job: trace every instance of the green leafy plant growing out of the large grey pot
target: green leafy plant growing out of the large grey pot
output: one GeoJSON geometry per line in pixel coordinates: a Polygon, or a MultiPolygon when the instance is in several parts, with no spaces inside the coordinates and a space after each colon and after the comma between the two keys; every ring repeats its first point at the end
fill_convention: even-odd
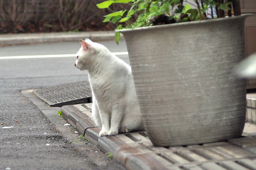
{"type": "MultiPolygon", "coordinates": [[[[103,22],[120,23],[116,30],[221,18],[225,17],[225,14],[231,17],[232,13],[235,16],[241,15],[239,0],[226,0],[225,3],[224,0],[190,0],[184,5],[185,2],[187,0],[107,0],[97,6],[110,9],[109,6],[113,3],[132,3],[130,9],[113,11],[104,16],[103,22]],[[190,4],[194,8],[191,8],[190,4]],[[136,19],[134,22],[130,21],[134,19],[133,16],[136,19]],[[126,24],[123,27],[121,23],[126,24]]],[[[120,32],[116,32],[117,43],[119,35],[120,32]]]]}

